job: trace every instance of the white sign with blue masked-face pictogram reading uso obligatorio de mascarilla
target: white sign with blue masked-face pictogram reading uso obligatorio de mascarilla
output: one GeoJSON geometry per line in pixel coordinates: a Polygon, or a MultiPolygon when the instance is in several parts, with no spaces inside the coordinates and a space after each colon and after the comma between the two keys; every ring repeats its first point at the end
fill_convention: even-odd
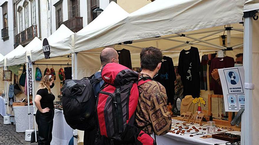
{"type": "Polygon", "coordinates": [[[218,69],[224,95],[225,111],[238,112],[245,108],[244,67],[218,69]]]}

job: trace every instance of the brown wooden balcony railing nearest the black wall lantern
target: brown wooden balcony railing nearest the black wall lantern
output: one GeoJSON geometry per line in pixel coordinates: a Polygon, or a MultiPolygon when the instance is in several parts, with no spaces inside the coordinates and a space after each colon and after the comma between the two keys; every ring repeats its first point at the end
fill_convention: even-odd
{"type": "Polygon", "coordinates": [[[66,25],[71,31],[78,32],[83,28],[83,17],[74,17],[64,21],[62,24],[66,25]]]}

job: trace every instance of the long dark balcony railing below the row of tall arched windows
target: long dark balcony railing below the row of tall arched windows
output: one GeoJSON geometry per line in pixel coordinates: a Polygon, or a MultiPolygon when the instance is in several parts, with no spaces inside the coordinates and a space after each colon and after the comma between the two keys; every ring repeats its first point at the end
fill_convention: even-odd
{"type": "Polygon", "coordinates": [[[21,45],[29,43],[37,36],[37,26],[33,25],[15,36],[15,42],[21,45]]]}

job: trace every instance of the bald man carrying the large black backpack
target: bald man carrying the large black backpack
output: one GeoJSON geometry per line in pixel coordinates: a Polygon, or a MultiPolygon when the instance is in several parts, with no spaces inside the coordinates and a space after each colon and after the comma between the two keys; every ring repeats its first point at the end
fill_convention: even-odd
{"type": "MultiPolygon", "coordinates": [[[[108,64],[111,62],[119,63],[119,54],[114,48],[107,47],[107,48],[104,48],[104,50],[102,50],[102,52],[100,54],[100,59],[101,59],[101,67],[100,67],[99,71],[97,71],[91,79],[102,78],[101,70],[105,64],[108,64]]],[[[103,83],[104,83],[104,81],[102,80],[99,83],[96,83],[93,85],[94,96],[98,95],[103,83]]],[[[85,131],[84,132],[84,145],[93,145],[95,142],[95,138],[96,138],[96,128],[93,129],[92,131],[89,131],[89,130],[85,131]]]]}

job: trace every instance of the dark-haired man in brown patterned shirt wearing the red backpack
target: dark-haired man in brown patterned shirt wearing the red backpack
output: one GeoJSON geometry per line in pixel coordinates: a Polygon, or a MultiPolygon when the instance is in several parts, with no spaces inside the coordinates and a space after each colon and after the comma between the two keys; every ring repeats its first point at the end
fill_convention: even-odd
{"type": "MultiPolygon", "coordinates": [[[[140,53],[142,71],[139,78],[152,79],[161,67],[162,52],[155,47],[143,48],[140,53]]],[[[171,116],[167,110],[165,87],[157,81],[148,81],[139,86],[136,109],[136,125],[147,134],[164,135],[171,129],[171,116]]]]}

